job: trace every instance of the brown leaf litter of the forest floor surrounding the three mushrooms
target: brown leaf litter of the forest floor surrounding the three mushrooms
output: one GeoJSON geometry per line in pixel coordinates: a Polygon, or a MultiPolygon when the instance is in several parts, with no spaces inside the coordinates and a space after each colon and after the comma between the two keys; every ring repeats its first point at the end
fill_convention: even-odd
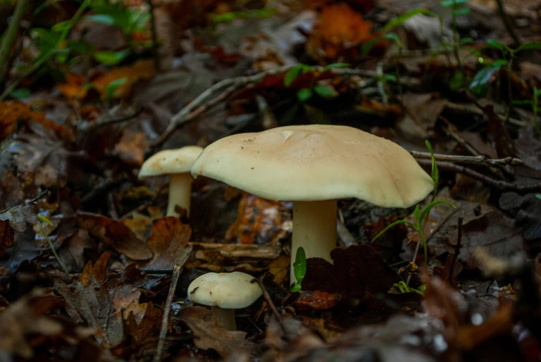
{"type": "Polygon", "coordinates": [[[2,355],[538,361],[537,5],[69,0],[0,24],[30,26],[0,46],[2,355]],[[429,173],[430,141],[420,206],[456,208],[371,243],[414,208],[339,200],[332,262],[306,260],[291,291],[291,203],[198,177],[191,217],[163,216],[168,177],[136,177],[158,150],[312,123],[389,138],[429,173]],[[208,271],[264,289],[237,331],[187,298],[208,271]]]}

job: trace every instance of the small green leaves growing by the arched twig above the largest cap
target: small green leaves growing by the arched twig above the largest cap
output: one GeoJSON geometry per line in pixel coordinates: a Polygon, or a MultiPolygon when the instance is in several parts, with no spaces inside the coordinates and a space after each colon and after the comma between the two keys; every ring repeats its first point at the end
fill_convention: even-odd
{"type": "Polygon", "coordinates": [[[307,64],[297,64],[296,66],[292,66],[287,73],[285,73],[285,77],[283,80],[283,84],[285,87],[290,87],[293,82],[299,78],[301,75],[312,72],[313,77],[310,84],[310,87],[305,87],[299,89],[299,91],[296,92],[296,98],[300,100],[301,102],[306,102],[312,96],[314,93],[316,93],[321,98],[335,98],[338,96],[337,91],[333,89],[332,87],[327,87],[323,84],[315,84],[314,80],[317,78],[317,75],[320,73],[323,73],[325,71],[328,71],[330,69],[336,69],[336,68],[346,68],[349,66],[349,64],[345,63],[333,63],[329,64],[328,66],[324,66],[322,69],[315,69],[312,66],[309,66],[307,64]]]}

